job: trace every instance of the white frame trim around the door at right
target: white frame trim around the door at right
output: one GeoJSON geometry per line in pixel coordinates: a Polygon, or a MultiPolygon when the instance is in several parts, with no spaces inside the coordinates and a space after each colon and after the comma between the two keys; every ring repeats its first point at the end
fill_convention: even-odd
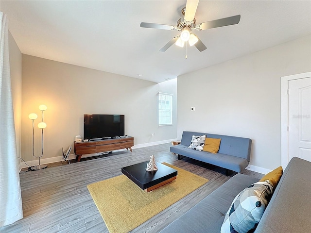
{"type": "Polygon", "coordinates": [[[281,165],[288,164],[288,83],[291,80],[311,77],[311,72],[281,77],[281,165]]]}

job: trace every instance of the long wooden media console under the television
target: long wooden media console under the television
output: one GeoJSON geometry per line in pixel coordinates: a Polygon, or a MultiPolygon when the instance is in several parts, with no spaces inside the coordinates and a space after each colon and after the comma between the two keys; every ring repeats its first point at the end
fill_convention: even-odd
{"type": "Polygon", "coordinates": [[[83,154],[95,154],[111,150],[125,149],[132,152],[134,146],[134,137],[128,136],[121,138],[104,139],[89,142],[74,142],[74,153],[77,155],[77,161],[80,162],[83,154]]]}

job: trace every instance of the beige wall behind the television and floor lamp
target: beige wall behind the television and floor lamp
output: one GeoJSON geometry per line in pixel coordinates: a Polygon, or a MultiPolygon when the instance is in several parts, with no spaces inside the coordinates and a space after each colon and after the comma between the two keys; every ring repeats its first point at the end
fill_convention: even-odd
{"type": "Polygon", "coordinates": [[[35,155],[40,154],[41,131],[36,127],[42,117],[40,104],[47,105],[42,157],[45,159],[61,156],[62,148],[73,147],[75,135],[83,137],[83,114],[124,114],[125,134],[135,137],[135,145],[174,139],[176,85],[176,80],[157,84],[23,54],[22,157],[26,161],[35,160],[30,113],[38,115],[35,155]],[[158,126],[158,92],[174,95],[172,126],[158,126]]]}

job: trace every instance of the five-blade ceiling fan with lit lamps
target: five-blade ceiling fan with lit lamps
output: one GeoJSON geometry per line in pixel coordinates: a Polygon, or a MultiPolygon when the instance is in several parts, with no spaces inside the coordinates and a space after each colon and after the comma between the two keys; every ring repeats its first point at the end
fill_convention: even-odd
{"type": "Polygon", "coordinates": [[[179,47],[184,47],[184,45],[186,44],[187,48],[187,42],[189,43],[190,46],[194,45],[200,52],[202,52],[207,48],[195,34],[191,33],[192,30],[202,31],[210,28],[218,28],[238,24],[240,22],[241,15],[220,18],[196,25],[194,16],[196,9],[198,7],[198,3],[199,0],[187,0],[186,7],[184,7],[181,10],[181,13],[184,17],[178,19],[177,26],[142,22],[140,23],[140,27],[164,29],[172,31],[178,30],[179,32],[181,32],[179,35],[173,37],[173,39],[170,40],[162,49],[160,49],[160,51],[162,52],[165,52],[174,43],[179,47]]]}

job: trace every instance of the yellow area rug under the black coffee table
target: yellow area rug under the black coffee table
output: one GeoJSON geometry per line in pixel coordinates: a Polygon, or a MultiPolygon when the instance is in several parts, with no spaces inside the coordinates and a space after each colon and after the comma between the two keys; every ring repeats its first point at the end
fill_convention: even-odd
{"type": "Polygon", "coordinates": [[[208,180],[176,166],[177,179],[145,192],[125,175],[87,185],[110,233],[127,233],[208,180]]]}

